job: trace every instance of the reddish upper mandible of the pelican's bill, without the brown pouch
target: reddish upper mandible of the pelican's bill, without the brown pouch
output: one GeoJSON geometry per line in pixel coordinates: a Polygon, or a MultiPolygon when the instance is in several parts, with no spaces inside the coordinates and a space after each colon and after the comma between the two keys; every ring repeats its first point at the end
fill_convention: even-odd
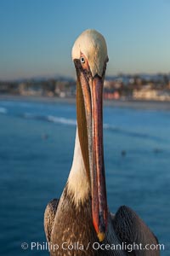
{"type": "Polygon", "coordinates": [[[103,148],[103,81],[96,76],[92,85],[93,102],[93,156],[92,161],[92,212],[94,228],[99,241],[105,239],[107,226],[107,199],[105,191],[105,165],[103,148]]]}

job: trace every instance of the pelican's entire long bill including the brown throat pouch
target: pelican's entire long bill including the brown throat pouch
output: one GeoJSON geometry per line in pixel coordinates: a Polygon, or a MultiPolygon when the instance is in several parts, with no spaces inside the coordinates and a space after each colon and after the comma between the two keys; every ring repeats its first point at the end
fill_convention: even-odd
{"type": "MultiPolygon", "coordinates": [[[[75,65],[77,67],[76,63],[75,65]]],[[[107,227],[103,148],[103,83],[103,78],[100,78],[99,75],[87,79],[87,76],[77,68],[78,133],[82,158],[91,186],[93,223],[99,241],[105,239],[107,227]]]]}

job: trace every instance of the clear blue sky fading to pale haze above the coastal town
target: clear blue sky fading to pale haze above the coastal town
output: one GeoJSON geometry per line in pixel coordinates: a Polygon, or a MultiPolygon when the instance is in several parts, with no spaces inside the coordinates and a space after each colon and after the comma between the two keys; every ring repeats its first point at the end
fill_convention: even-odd
{"type": "Polygon", "coordinates": [[[170,72],[170,0],[0,0],[0,79],[74,76],[87,28],[105,36],[107,74],[170,72]]]}

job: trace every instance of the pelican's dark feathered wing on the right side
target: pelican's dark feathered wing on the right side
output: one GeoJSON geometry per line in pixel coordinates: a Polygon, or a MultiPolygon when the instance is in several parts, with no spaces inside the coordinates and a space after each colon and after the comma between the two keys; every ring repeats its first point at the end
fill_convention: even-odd
{"type": "Polygon", "coordinates": [[[129,255],[160,255],[159,247],[153,250],[154,245],[156,246],[158,244],[156,236],[131,208],[122,206],[115,215],[111,213],[111,218],[114,230],[120,241],[126,242],[127,245],[134,245],[134,243],[136,245],[141,244],[141,247],[144,248],[144,250],[141,250],[138,246],[135,246],[133,252],[129,253],[129,255]],[[152,245],[152,250],[150,249],[150,245],[152,245]]]}

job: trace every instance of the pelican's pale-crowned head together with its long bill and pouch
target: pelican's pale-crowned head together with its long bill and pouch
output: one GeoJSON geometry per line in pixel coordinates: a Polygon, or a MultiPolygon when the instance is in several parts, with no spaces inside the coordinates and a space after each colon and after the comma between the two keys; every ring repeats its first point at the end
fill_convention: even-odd
{"type": "Polygon", "coordinates": [[[107,201],[103,149],[103,84],[108,61],[105,38],[87,30],[72,48],[77,70],[77,127],[82,158],[92,197],[94,229],[105,239],[107,201]]]}

